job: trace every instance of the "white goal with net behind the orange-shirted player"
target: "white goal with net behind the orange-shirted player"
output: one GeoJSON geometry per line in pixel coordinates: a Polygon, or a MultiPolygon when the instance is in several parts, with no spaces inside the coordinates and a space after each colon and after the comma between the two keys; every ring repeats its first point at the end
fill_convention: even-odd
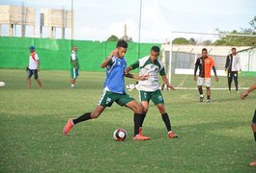
{"type": "MultiPolygon", "coordinates": [[[[162,61],[165,62],[171,85],[181,89],[195,89],[196,83],[193,81],[194,63],[201,56],[201,50],[207,48],[209,56],[215,62],[217,76],[220,78],[217,84],[212,80],[212,87],[213,89],[227,89],[225,62],[226,57],[231,54],[231,49],[235,47],[242,64],[242,73],[239,74],[239,88],[244,89],[256,82],[255,45],[256,35],[172,32],[170,42],[163,43],[161,46],[161,56],[162,61]],[[179,38],[179,44],[176,44],[179,38]],[[249,41],[250,43],[246,43],[249,41]]],[[[234,82],[232,86],[234,87],[234,82]]]]}

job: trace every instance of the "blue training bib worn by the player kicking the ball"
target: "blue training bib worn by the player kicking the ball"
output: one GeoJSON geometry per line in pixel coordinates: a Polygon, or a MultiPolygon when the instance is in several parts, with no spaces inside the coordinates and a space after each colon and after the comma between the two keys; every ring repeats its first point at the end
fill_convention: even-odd
{"type": "Polygon", "coordinates": [[[106,66],[106,79],[104,83],[104,89],[115,93],[126,92],[124,76],[126,68],[126,59],[119,59],[114,56],[106,66]]]}

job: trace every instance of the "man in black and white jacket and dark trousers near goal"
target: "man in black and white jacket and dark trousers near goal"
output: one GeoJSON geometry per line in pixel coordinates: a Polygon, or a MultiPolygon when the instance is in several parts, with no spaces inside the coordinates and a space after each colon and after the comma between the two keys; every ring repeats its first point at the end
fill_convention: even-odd
{"type": "Polygon", "coordinates": [[[226,64],[225,64],[225,71],[228,75],[228,91],[231,92],[231,84],[234,78],[236,91],[239,92],[239,74],[238,71],[242,71],[241,68],[241,61],[240,61],[240,55],[237,54],[237,49],[233,47],[231,49],[232,53],[227,56],[226,64]]]}

